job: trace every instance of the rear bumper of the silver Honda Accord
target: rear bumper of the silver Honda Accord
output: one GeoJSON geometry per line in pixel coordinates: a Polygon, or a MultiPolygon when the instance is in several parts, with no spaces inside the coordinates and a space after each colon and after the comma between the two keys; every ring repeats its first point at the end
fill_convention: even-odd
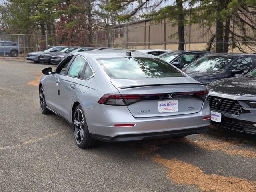
{"type": "Polygon", "coordinates": [[[99,140],[128,141],[170,136],[183,136],[207,132],[210,119],[210,106],[204,102],[198,113],[135,118],[126,106],[96,104],[94,108],[84,110],[88,129],[92,137],[99,140]],[[114,127],[115,124],[135,124],[134,126],[114,127]]]}

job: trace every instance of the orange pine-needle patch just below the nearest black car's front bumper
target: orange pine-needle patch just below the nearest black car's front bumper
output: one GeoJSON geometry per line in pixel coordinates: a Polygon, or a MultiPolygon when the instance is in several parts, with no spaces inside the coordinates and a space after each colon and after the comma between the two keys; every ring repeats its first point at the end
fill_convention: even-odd
{"type": "Polygon", "coordinates": [[[200,148],[204,148],[206,150],[217,151],[221,150],[230,155],[237,155],[243,157],[256,158],[256,152],[245,150],[245,149],[236,149],[239,146],[244,145],[244,141],[240,140],[227,140],[227,141],[218,141],[218,140],[208,140],[208,141],[194,141],[191,139],[184,139],[185,141],[195,144],[200,148]]]}

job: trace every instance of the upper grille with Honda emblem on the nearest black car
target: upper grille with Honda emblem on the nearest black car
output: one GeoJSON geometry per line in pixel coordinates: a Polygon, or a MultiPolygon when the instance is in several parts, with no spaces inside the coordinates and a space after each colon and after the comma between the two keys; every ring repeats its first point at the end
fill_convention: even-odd
{"type": "Polygon", "coordinates": [[[230,114],[240,115],[244,111],[243,107],[237,100],[209,96],[209,104],[211,110],[226,112],[230,114]],[[215,105],[215,99],[221,101],[220,106],[215,105]]]}

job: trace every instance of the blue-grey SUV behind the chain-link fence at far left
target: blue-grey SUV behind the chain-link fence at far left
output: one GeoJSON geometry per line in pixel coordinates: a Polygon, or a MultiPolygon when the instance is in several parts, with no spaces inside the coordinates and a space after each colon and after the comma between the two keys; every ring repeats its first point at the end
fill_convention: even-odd
{"type": "Polygon", "coordinates": [[[18,42],[0,41],[0,55],[17,57],[19,53],[22,53],[22,49],[19,48],[18,42]]]}

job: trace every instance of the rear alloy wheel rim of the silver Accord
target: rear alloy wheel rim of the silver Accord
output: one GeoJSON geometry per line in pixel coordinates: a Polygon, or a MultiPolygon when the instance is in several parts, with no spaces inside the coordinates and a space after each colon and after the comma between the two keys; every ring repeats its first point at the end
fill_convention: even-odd
{"type": "Polygon", "coordinates": [[[76,109],[73,122],[76,143],[81,144],[84,138],[84,116],[80,108],[76,109]]]}

